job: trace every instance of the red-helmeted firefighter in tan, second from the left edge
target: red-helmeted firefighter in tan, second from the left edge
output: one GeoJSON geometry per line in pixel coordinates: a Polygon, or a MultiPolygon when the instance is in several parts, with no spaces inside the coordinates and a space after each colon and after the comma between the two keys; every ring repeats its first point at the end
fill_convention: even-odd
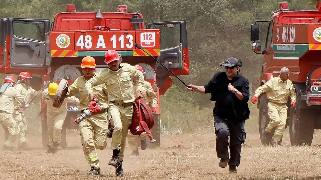
{"type": "MultiPolygon", "coordinates": [[[[15,88],[25,97],[26,102],[28,102],[33,96],[37,94],[38,91],[32,89],[30,86],[30,80],[32,77],[28,72],[21,72],[19,74],[19,80],[15,84],[15,88]]],[[[41,91],[41,90],[39,90],[41,91]]],[[[19,140],[19,149],[29,149],[25,132],[27,131],[27,121],[26,117],[21,110],[21,107],[19,107],[19,102],[14,102],[14,113],[13,113],[13,119],[17,122],[20,133],[18,134],[18,140],[19,140]]],[[[27,105],[28,106],[28,105],[27,105]]]]}

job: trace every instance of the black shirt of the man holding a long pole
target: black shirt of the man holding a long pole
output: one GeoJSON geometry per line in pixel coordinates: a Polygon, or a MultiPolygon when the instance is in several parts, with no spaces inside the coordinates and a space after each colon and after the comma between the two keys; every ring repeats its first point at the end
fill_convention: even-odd
{"type": "Polygon", "coordinates": [[[236,77],[229,80],[225,72],[218,72],[210,82],[204,85],[204,88],[205,93],[211,93],[211,101],[215,101],[214,114],[232,121],[244,121],[249,118],[250,110],[247,102],[250,91],[247,78],[238,73],[236,77]],[[229,83],[243,94],[243,100],[239,100],[228,90],[229,83]]]}

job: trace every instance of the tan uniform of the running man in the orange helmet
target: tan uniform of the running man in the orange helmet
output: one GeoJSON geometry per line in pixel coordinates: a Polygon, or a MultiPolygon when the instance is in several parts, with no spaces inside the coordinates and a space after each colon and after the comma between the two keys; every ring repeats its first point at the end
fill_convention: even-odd
{"type": "MultiPolygon", "coordinates": [[[[97,73],[94,74],[94,77],[96,76],[97,73]]],[[[82,75],[68,87],[68,92],[70,93],[68,97],[79,92],[79,116],[82,110],[89,109],[90,105],[90,100],[85,90],[85,82],[87,80],[82,75]]],[[[106,109],[108,108],[108,97],[105,84],[93,87],[93,94],[99,99],[100,104],[104,106],[105,110],[83,119],[79,123],[79,129],[86,161],[91,167],[99,168],[99,158],[96,149],[103,150],[107,146],[106,130],[108,129],[108,114],[106,109]]]]}

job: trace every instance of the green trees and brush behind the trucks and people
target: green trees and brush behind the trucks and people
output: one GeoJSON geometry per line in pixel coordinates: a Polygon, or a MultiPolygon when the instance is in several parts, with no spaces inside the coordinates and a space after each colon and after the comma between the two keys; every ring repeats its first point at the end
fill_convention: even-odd
{"type": "MultiPolygon", "coordinates": [[[[277,10],[278,0],[1,0],[0,18],[39,18],[53,20],[66,4],[77,11],[117,11],[126,4],[128,12],[141,12],[145,22],[186,20],[190,75],[181,76],[187,84],[207,83],[222,70],[219,63],[229,57],[241,59],[241,74],[250,82],[251,92],[258,86],[262,55],[251,51],[250,27],[255,20],[269,20],[277,10]]],[[[316,10],[315,1],[290,0],[290,10],[316,10]]],[[[267,24],[260,24],[260,41],[265,42],[267,24]]],[[[264,44],[264,43],[262,43],[264,44]]],[[[264,48],[264,47],[262,47],[264,48]]],[[[162,125],[167,131],[182,132],[213,127],[210,95],[188,92],[175,77],[173,86],[161,97],[162,125]]],[[[256,107],[250,104],[251,119],[257,123],[256,107]]]]}

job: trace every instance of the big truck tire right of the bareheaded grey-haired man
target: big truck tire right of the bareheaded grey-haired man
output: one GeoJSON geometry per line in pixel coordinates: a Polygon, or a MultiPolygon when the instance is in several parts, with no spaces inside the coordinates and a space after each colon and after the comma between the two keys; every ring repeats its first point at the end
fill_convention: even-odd
{"type": "Polygon", "coordinates": [[[290,141],[291,145],[311,146],[314,132],[313,112],[307,109],[290,109],[290,141]]]}

